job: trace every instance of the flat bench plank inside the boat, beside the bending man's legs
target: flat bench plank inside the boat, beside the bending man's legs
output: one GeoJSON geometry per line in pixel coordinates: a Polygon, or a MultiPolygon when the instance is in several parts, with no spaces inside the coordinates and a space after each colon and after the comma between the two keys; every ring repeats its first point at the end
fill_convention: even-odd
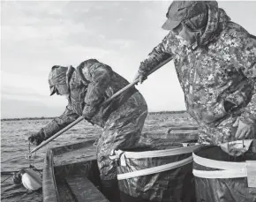
{"type": "Polygon", "coordinates": [[[86,176],[67,176],[65,181],[78,202],[109,202],[86,176]]]}

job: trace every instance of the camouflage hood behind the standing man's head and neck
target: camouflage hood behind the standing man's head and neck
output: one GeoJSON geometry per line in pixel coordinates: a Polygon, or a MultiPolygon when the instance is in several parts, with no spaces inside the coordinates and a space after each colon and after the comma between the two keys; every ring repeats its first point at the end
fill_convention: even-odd
{"type": "Polygon", "coordinates": [[[213,41],[230,21],[230,17],[226,14],[225,11],[218,7],[216,2],[209,2],[207,7],[207,27],[205,32],[200,37],[200,45],[207,45],[209,41],[213,41]]]}

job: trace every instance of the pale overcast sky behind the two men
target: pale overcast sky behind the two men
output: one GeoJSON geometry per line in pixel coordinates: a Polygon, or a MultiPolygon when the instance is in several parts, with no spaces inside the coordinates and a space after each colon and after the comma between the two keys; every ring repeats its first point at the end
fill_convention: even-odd
{"type": "MultiPolygon", "coordinates": [[[[2,2],[1,115],[59,116],[67,101],[49,96],[55,64],[89,58],[132,81],[139,63],[168,34],[161,26],[170,1],[2,2]]],[[[230,18],[256,35],[256,2],[219,2],[230,18]]],[[[183,110],[173,62],[138,86],[150,111],[183,110]]]]}

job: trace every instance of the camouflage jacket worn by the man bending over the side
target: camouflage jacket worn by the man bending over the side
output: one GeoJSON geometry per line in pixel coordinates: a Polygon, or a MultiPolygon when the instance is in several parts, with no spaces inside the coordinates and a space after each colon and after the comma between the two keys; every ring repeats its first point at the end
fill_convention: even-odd
{"type": "Polygon", "coordinates": [[[77,69],[70,67],[67,71],[67,80],[70,88],[69,103],[61,116],[42,128],[45,138],[60,131],[79,116],[84,116],[90,123],[104,127],[110,114],[137,92],[137,89],[132,87],[108,104],[99,107],[103,101],[127,86],[129,82],[112,71],[108,65],[95,59],[87,60],[85,65],[79,65],[77,69]]]}

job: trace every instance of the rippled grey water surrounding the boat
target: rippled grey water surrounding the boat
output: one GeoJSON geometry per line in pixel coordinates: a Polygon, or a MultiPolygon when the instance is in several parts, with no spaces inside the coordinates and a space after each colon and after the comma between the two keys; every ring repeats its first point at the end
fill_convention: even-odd
{"type": "MultiPolygon", "coordinates": [[[[26,132],[38,131],[46,123],[49,123],[49,121],[49,119],[44,119],[1,122],[1,173],[19,171],[21,168],[26,168],[30,164],[34,165],[35,168],[42,168],[47,148],[97,138],[102,133],[100,127],[82,121],[53,140],[49,145],[42,147],[36,152],[35,156],[33,155],[32,160],[28,161],[26,159],[26,153],[28,151],[28,136],[26,132]]],[[[164,133],[168,130],[169,126],[176,123],[192,123],[192,121],[186,116],[148,116],[144,131],[155,132],[155,134],[164,133]]],[[[11,174],[1,174],[1,182],[8,176],[11,176],[11,174]]],[[[1,183],[1,201],[41,202],[42,191],[27,191],[22,184],[16,185],[9,178],[4,183],[1,183]]]]}

